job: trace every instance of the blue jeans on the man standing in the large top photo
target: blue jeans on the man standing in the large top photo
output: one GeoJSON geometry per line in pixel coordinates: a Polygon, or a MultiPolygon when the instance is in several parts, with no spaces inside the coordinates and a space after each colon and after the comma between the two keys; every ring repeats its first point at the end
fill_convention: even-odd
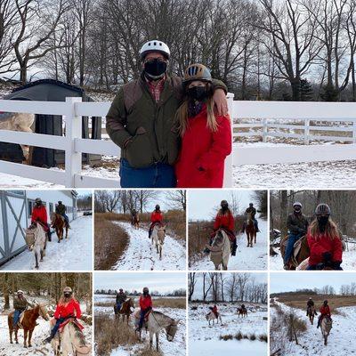
{"type": "Polygon", "coordinates": [[[174,166],[157,163],[146,168],[133,168],[125,158],[120,160],[122,188],[175,188],[174,166]]]}

